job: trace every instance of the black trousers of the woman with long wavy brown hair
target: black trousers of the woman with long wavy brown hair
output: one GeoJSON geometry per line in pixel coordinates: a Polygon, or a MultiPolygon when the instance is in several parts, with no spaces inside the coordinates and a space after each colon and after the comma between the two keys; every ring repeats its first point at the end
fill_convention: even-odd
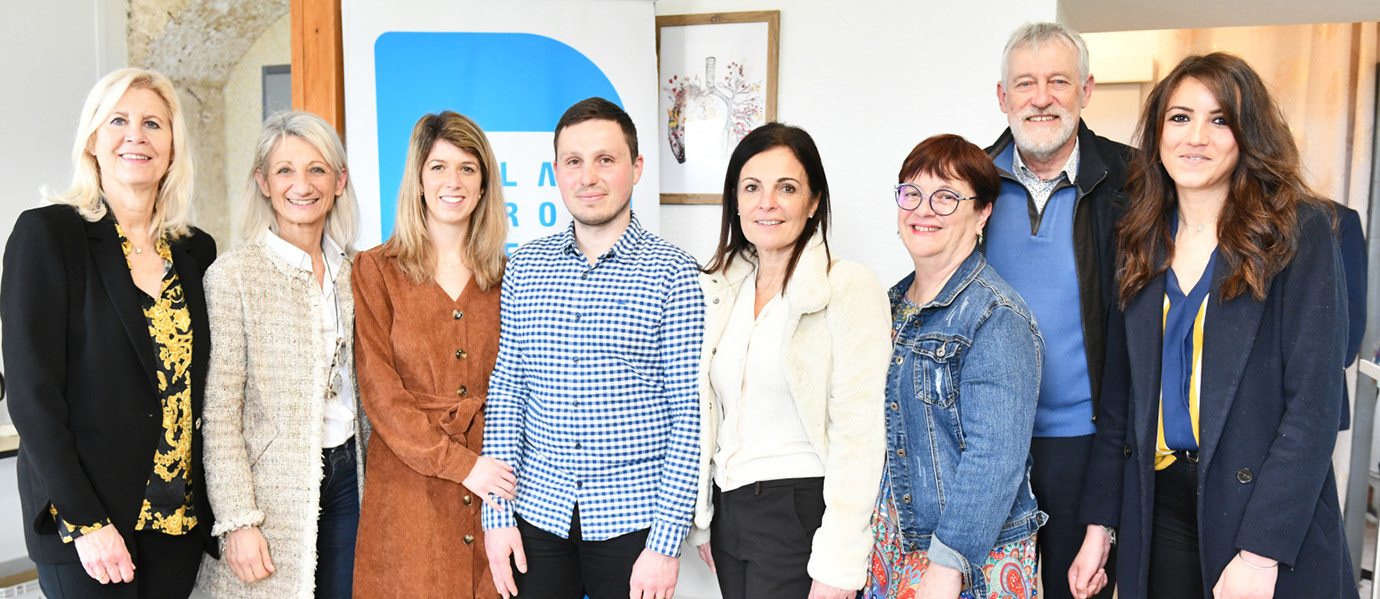
{"type": "Polygon", "coordinates": [[[1180,457],[1155,472],[1148,599],[1202,598],[1198,559],[1198,464],[1180,457]]]}

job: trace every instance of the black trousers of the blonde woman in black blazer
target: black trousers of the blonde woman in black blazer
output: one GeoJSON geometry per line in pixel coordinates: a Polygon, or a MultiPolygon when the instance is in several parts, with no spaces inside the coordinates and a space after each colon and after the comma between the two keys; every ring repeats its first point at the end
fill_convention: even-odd
{"type": "Polygon", "coordinates": [[[39,587],[48,599],[186,599],[196,584],[206,540],[200,529],[188,534],[152,531],[124,537],[134,562],[130,582],[101,584],[81,563],[40,563],[39,587]]]}

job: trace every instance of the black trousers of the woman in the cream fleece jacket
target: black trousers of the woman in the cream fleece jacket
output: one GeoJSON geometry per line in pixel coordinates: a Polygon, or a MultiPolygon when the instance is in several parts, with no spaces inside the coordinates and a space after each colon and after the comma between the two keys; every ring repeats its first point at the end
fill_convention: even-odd
{"type": "Polygon", "coordinates": [[[824,479],[713,490],[709,548],[723,599],[805,599],[810,547],[824,518],[824,479]]]}

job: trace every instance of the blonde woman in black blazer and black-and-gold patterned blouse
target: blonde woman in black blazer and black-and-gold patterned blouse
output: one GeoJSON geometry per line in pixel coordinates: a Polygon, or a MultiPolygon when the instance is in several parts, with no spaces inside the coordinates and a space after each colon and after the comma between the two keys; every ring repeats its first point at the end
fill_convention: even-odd
{"type": "Polygon", "coordinates": [[[199,415],[215,242],[186,224],[185,131],[167,77],[108,75],[70,189],[21,214],[6,246],[19,501],[51,599],[186,598],[213,548],[199,415]]]}

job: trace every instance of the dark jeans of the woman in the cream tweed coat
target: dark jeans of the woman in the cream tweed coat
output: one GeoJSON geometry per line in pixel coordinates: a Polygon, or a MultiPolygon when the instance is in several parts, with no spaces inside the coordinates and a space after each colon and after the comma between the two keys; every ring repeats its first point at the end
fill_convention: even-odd
{"type": "Polygon", "coordinates": [[[322,513],[316,520],[316,596],[349,599],[359,531],[359,472],[355,439],[322,450],[322,513]]]}

